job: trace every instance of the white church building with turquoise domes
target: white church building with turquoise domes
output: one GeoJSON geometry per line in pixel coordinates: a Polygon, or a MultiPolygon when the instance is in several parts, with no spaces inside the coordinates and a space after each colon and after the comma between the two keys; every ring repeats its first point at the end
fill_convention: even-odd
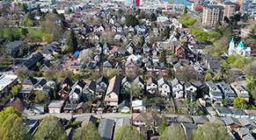
{"type": "Polygon", "coordinates": [[[230,47],[229,47],[229,55],[242,55],[244,57],[250,57],[251,55],[251,47],[245,47],[243,41],[241,41],[240,43],[238,43],[238,46],[235,46],[235,41],[232,40],[230,41],[230,47]]]}

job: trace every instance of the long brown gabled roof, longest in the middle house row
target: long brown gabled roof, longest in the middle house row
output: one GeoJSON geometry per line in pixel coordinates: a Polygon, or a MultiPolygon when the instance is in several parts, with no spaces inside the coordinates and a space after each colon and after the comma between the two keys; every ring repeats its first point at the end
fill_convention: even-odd
{"type": "Polygon", "coordinates": [[[114,92],[116,95],[120,94],[121,80],[118,76],[114,76],[110,81],[106,90],[106,95],[114,92]]]}

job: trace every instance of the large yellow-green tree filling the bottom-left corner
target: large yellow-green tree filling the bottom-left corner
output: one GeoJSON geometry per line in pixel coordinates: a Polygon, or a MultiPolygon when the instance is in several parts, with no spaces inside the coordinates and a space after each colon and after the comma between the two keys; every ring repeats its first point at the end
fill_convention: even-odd
{"type": "Polygon", "coordinates": [[[11,114],[1,126],[0,139],[27,139],[26,131],[22,119],[16,114],[11,114]]]}

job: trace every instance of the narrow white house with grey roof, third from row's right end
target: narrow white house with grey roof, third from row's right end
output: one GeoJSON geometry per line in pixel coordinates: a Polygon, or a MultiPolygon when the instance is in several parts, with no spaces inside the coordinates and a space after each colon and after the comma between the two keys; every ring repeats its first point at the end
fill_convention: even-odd
{"type": "Polygon", "coordinates": [[[209,92],[208,95],[210,97],[211,102],[222,105],[223,94],[219,88],[216,87],[213,81],[206,82],[209,92]]]}

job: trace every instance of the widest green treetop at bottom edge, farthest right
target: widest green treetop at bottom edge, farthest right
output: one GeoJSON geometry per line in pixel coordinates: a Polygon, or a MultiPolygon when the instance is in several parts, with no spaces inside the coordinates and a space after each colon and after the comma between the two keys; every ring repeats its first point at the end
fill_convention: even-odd
{"type": "Polygon", "coordinates": [[[231,140],[227,127],[223,123],[204,123],[192,131],[191,140],[231,140]]]}

